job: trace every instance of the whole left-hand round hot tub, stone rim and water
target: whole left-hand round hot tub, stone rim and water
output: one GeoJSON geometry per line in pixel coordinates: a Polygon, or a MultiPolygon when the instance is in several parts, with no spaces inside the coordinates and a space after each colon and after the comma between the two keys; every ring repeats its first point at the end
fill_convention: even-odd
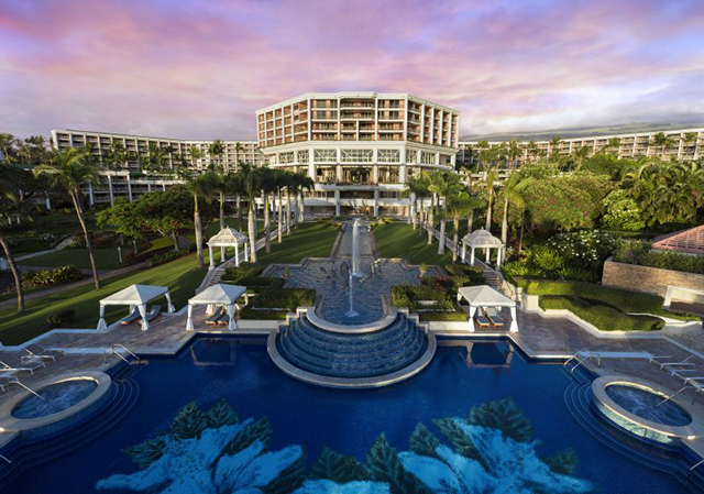
{"type": "Polygon", "coordinates": [[[50,377],[31,387],[43,399],[22,392],[0,405],[0,431],[47,433],[89,415],[110,391],[108,374],[80,371],[50,377]]]}

